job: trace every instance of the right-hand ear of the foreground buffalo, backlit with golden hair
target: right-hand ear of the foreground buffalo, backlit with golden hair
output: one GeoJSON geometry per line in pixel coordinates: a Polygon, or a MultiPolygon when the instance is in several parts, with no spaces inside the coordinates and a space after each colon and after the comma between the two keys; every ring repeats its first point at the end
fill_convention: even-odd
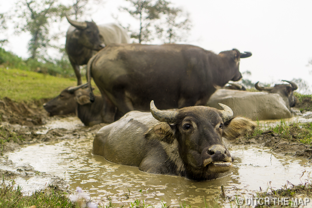
{"type": "Polygon", "coordinates": [[[236,139],[252,133],[257,124],[245,117],[235,117],[224,123],[222,137],[227,139],[236,139]]]}

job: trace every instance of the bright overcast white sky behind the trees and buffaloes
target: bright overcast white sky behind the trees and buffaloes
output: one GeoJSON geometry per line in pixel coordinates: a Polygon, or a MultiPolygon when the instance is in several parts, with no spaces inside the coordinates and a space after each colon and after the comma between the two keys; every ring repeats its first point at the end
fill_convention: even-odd
{"type": "MultiPolygon", "coordinates": [[[[190,13],[193,28],[186,43],[215,53],[233,48],[251,51],[251,57],[241,59],[240,71],[251,71],[248,78],[253,82],[279,84],[280,80],[301,78],[312,86],[312,66],[307,66],[312,59],[312,1],[168,1],[190,13]]],[[[98,11],[81,21],[115,22],[114,14],[124,25],[137,24],[118,11],[119,6],[126,5],[124,0],[107,0],[102,8],[95,5],[98,11]]],[[[12,6],[12,1],[1,1],[0,12],[12,6]]],[[[64,22],[65,31],[68,27],[64,22]]],[[[29,39],[28,34],[9,34],[5,48],[27,58],[29,39]]],[[[65,38],[61,41],[65,44],[65,38]]]]}

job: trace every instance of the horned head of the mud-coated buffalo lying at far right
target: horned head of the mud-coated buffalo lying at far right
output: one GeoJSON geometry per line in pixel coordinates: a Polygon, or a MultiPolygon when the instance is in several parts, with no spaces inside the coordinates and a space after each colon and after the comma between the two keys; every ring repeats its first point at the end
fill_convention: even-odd
{"type": "Polygon", "coordinates": [[[296,104],[296,98],[294,96],[294,91],[298,89],[298,86],[294,82],[282,80],[288,82],[289,84],[274,85],[274,87],[261,87],[258,85],[259,82],[255,84],[255,87],[259,91],[266,91],[269,93],[279,94],[288,108],[294,107],[296,104]]]}

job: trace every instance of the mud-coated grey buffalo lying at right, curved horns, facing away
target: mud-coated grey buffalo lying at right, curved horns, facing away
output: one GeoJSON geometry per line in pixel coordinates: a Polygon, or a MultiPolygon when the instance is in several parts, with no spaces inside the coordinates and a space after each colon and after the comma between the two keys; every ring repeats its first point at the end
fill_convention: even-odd
{"type": "Polygon", "coordinates": [[[291,84],[275,85],[271,88],[261,88],[256,83],[258,90],[266,89],[267,92],[218,89],[207,105],[220,109],[218,103],[223,103],[233,110],[234,116],[246,116],[252,120],[291,118],[289,109],[295,104],[293,91],[297,89],[297,85],[289,83],[291,84]]]}

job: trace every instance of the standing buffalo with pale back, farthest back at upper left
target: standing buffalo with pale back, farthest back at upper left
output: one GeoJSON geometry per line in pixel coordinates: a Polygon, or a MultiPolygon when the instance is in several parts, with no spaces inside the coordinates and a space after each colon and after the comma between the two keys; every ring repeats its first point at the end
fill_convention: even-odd
{"type": "Polygon", "coordinates": [[[66,16],[72,25],[66,33],[65,49],[75,70],[78,85],[82,84],[79,65],[88,60],[110,43],[129,43],[123,27],[115,24],[96,25],[95,22],[76,22],[66,16]]]}

